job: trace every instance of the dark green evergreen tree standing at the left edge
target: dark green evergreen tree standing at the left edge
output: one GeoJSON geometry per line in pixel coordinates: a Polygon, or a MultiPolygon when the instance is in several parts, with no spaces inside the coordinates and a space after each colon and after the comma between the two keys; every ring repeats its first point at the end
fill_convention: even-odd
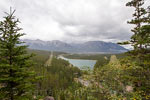
{"type": "Polygon", "coordinates": [[[32,55],[27,54],[27,46],[19,39],[24,33],[20,33],[14,12],[6,13],[0,21],[0,99],[29,100],[34,80],[34,72],[30,71],[32,55]]]}

